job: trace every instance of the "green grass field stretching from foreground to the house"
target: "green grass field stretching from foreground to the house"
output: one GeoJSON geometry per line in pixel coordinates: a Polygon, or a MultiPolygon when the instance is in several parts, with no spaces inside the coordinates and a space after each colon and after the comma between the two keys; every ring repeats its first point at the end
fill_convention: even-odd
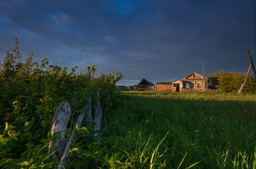
{"type": "Polygon", "coordinates": [[[256,95],[125,91],[106,112],[108,168],[256,168],[256,95]]]}

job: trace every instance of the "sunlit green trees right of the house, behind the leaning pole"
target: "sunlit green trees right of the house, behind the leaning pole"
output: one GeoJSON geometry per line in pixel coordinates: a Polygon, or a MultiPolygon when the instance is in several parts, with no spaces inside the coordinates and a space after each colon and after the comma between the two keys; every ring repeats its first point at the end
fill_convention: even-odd
{"type": "MultiPolygon", "coordinates": [[[[237,73],[234,71],[219,71],[208,76],[208,84],[219,88],[219,90],[225,93],[237,92],[240,89],[241,84],[244,83],[245,76],[246,74],[237,73]]],[[[256,78],[255,76],[252,76],[252,74],[249,75],[248,81],[244,87],[244,92],[256,92],[256,78]]]]}

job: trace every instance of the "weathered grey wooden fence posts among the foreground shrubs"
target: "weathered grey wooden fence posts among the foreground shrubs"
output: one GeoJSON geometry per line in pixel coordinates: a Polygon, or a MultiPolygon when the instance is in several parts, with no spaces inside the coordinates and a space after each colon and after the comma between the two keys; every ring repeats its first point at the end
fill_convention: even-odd
{"type": "MultiPolygon", "coordinates": [[[[67,154],[69,152],[70,143],[71,141],[74,143],[77,141],[75,130],[82,124],[84,116],[86,116],[87,122],[92,122],[93,120],[96,122],[96,126],[94,127],[94,136],[96,139],[99,139],[99,134],[96,131],[101,129],[103,107],[100,105],[99,91],[97,92],[97,95],[98,100],[96,109],[94,109],[94,114],[92,114],[91,111],[91,96],[87,95],[87,98],[85,99],[86,101],[84,101],[84,108],[86,109],[86,112],[79,114],[69,138],[64,138],[64,136],[65,131],[67,130],[67,123],[71,117],[71,107],[68,102],[62,101],[59,103],[59,108],[53,116],[53,123],[50,132],[52,136],[58,134],[59,137],[51,140],[49,145],[49,151],[54,152],[53,157],[59,157],[60,163],[58,169],[65,168],[69,162],[70,156],[67,156],[67,154]]],[[[79,164],[78,168],[80,168],[79,164]]]]}

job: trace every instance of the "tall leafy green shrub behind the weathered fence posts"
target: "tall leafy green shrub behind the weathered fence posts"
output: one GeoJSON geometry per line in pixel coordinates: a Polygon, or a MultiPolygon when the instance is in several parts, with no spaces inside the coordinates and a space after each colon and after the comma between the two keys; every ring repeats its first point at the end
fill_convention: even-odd
{"type": "Polygon", "coordinates": [[[47,149],[59,102],[68,101],[77,116],[75,112],[83,111],[86,95],[96,103],[95,94],[100,90],[107,111],[117,97],[115,84],[122,75],[113,72],[94,79],[95,66],[75,74],[77,67],[68,72],[65,67],[49,65],[45,58],[34,61],[33,53],[22,62],[18,44],[15,39],[13,49],[0,63],[0,166],[50,168],[58,164],[49,158],[47,149]]]}

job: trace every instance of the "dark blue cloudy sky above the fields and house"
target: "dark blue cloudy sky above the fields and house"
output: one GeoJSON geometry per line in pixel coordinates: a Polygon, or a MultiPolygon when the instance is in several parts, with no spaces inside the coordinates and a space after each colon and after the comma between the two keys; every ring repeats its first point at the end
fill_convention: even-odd
{"type": "Polygon", "coordinates": [[[205,76],[244,73],[255,16],[255,0],[1,0],[0,57],[18,38],[24,58],[118,71],[127,86],[203,74],[203,61],[205,76]]]}

